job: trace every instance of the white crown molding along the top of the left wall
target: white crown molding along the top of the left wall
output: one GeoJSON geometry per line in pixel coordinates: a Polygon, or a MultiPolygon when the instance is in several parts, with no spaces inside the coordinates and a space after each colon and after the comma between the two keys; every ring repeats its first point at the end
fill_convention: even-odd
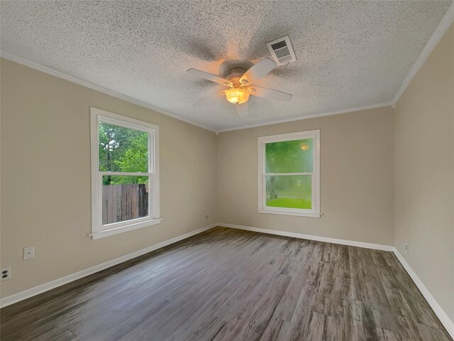
{"type": "Polygon", "coordinates": [[[67,75],[67,74],[57,71],[57,70],[53,70],[50,67],[39,65],[37,63],[31,62],[30,60],[18,57],[17,55],[12,55],[11,53],[0,51],[0,57],[5,58],[7,60],[11,60],[11,61],[21,64],[21,65],[26,65],[26,66],[31,67],[32,69],[35,69],[38,71],[45,72],[48,75],[62,78],[63,80],[68,80],[68,81],[76,83],[78,85],[82,85],[82,87],[88,87],[89,89],[92,89],[92,90],[95,90],[98,92],[102,92],[103,94],[108,94],[109,96],[116,97],[118,99],[122,99],[123,101],[138,105],[139,107],[144,107],[146,109],[153,110],[153,112],[158,112],[165,116],[172,117],[172,119],[178,119],[179,121],[184,121],[186,123],[192,124],[193,126],[198,126],[199,128],[216,132],[215,129],[212,129],[209,126],[204,126],[203,124],[196,123],[194,121],[191,121],[190,119],[185,119],[184,117],[181,117],[179,115],[171,114],[170,112],[166,112],[165,110],[157,108],[151,104],[142,102],[139,99],[135,99],[133,97],[126,96],[125,94],[120,94],[119,92],[115,92],[113,90],[106,89],[105,87],[100,87],[99,85],[93,84],[91,82],[87,82],[86,80],[79,80],[79,78],[72,77],[70,75],[67,75]]]}

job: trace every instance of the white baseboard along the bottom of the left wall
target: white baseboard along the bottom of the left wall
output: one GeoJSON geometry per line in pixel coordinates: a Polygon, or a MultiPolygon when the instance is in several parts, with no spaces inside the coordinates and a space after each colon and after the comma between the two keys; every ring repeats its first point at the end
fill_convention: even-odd
{"type": "Polygon", "coordinates": [[[40,293],[44,293],[45,291],[49,291],[53,288],[57,288],[59,286],[62,286],[64,284],[70,283],[72,281],[76,281],[77,279],[80,279],[82,277],[94,274],[95,272],[110,268],[111,266],[123,263],[123,261],[128,261],[130,259],[133,259],[138,256],[142,256],[143,254],[147,254],[148,252],[155,251],[157,249],[160,249],[161,247],[166,247],[169,244],[173,244],[176,242],[179,242],[182,239],[186,239],[189,237],[194,236],[194,234],[199,234],[201,232],[206,231],[207,229],[212,229],[213,227],[216,227],[217,224],[211,224],[206,227],[202,227],[201,229],[196,229],[192,232],[188,232],[185,234],[182,234],[181,236],[168,239],[165,242],[160,242],[155,245],[152,245],[150,247],[145,247],[145,249],[141,249],[138,251],[131,252],[131,254],[126,254],[124,256],[118,257],[116,259],[112,259],[111,261],[106,261],[105,263],[98,264],[95,266],[92,266],[89,269],[85,269],[82,271],[78,271],[74,274],[70,274],[68,276],[62,277],[55,279],[54,281],[50,281],[48,283],[41,284],[40,286],[35,286],[33,288],[21,291],[20,293],[15,293],[11,296],[7,296],[5,298],[1,298],[0,300],[0,308],[4,308],[7,305],[11,305],[13,303],[17,303],[19,301],[23,301],[26,298],[31,298],[32,296],[36,296],[40,293]]]}

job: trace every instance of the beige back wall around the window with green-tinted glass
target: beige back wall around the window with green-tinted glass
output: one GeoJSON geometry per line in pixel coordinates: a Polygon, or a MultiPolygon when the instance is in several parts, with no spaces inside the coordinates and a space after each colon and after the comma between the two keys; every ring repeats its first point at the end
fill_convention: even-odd
{"type": "Polygon", "coordinates": [[[218,136],[220,222],[394,244],[392,107],[305,119],[218,136]],[[320,129],[320,218],[258,213],[258,136],[320,129]]]}

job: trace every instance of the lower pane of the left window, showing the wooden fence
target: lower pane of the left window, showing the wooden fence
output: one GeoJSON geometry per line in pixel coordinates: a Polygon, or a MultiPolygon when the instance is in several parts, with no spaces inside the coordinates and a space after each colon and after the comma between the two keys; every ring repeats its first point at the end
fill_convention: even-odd
{"type": "Polygon", "coordinates": [[[102,224],[148,216],[148,176],[102,177],[102,224]]]}

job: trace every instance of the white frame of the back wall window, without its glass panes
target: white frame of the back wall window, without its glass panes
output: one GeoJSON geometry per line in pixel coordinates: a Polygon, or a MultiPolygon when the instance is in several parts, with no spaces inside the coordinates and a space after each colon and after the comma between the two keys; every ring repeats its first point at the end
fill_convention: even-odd
{"type": "Polygon", "coordinates": [[[261,136],[258,138],[258,212],[274,215],[297,215],[301,217],[320,217],[320,129],[299,131],[296,133],[261,136]],[[265,144],[271,142],[314,139],[314,171],[313,173],[265,173],[265,144]],[[304,210],[266,205],[266,175],[312,175],[312,209],[304,210]]]}

